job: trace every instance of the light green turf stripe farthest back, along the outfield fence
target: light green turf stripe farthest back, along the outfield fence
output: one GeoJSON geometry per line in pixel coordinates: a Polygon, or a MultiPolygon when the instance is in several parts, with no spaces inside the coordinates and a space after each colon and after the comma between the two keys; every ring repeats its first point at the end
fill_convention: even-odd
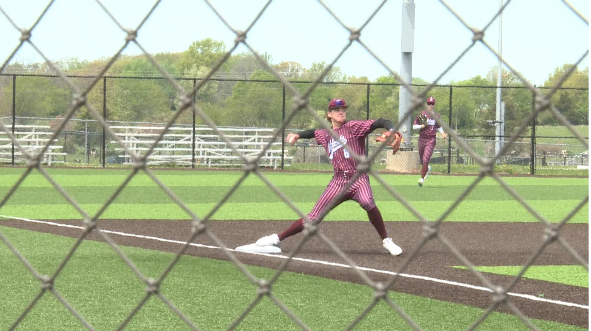
{"type": "MultiPolygon", "coordinates": [[[[76,186],[100,186],[116,187],[119,186],[131,171],[123,174],[113,174],[104,170],[96,171],[86,170],[87,173],[76,174],[54,174],[54,180],[64,187],[76,186]]],[[[176,173],[158,174],[157,177],[167,186],[232,186],[238,181],[242,173],[233,171],[215,171],[215,174],[205,175],[203,171],[177,171],[176,173]]],[[[0,168],[0,187],[12,187],[20,177],[20,174],[4,174],[4,169],[0,168]]],[[[277,186],[326,186],[332,174],[309,174],[299,173],[267,173],[265,174],[272,183],[277,186]]],[[[417,187],[416,175],[392,175],[382,174],[380,176],[389,185],[412,186],[417,187]]],[[[426,181],[426,186],[468,186],[476,177],[472,176],[430,176],[426,181]]],[[[540,177],[504,177],[506,183],[512,186],[589,186],[587,178],[540,178],[540,177]]],[[[376,179],[370,179],[372,184],[378,184],[376,179]]],[[[129,186],[155,186],[156,184],[145,174],[137,174],[128,184],[129,186]]],[[[242,183],[243,186],[265,186],[262,180],[256,176],[248,176],[242,183]]],[[[34,171],[21,184],[22,187],[50,187],[51,184],[44,179],[41,174],[34,171]]],[[[479,183],[479,186],[499,186],[491,179],[485,178],[479,183]]],[[[418,187],[417,187],[418,188],[418,187]]]]}

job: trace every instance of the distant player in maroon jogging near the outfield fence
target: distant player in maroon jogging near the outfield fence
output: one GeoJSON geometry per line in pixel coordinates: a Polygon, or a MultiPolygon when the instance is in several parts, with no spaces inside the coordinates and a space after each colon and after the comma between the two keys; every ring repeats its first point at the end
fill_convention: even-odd
{"type": "MultiPolygon", "coordinates": [[[[434,110],[435,98],[432,96],[427,99],[427,109],[435,113],[437,119],[440,119],[439,113],[434,110]]],[[[420,112],[414,119],[413,129],[418,130],[418,157],[423,166],[421,168],[421,178],[418,180],[418,186],[422,187],[425,179],[429,176],[429,171],[431,171],[429,160],[431,160],[431,155],[433,155],[437,132],[441,134],[443,139],[447,138],[447,135],[426,110],[420,112]]]]}

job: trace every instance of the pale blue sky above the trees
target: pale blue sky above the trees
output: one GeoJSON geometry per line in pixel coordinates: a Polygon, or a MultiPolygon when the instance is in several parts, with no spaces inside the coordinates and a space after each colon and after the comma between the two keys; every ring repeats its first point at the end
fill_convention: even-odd
{"type": "MultiPolygon", "coordinates": [[[[407,0],[410,1],[410,0],[407,0]]],[[[447,0],[466,24],[484,28],[501,0],[447,0]]],[[[504,0],[505,2],[507,0],[504,0]]],[[[136,28],[150,11],[151,0],[101,0],[125,28],[136,28]]],[[[400,72],[401,15],[403,0],[387,1],[361,32],[361,40],[391,70],[400,72]]],[[[585,18],[589,2],[569,0],[585,18]]],[[[47,0],[0,0],[0,7],[21,28],[30,28],[47,6],[47,0]]],[[[235,30],[245,30],[264,8],[264,0],[210,0],[235,30]]],[[[349,27],[359,28],[381,4],[380,0],[324,0],[349,27]]],[[[469,31],[440,1],[415,0],[413,77],[433,81],[472,44],[469,31]]],[[[95,0],[54,0],[32,33],[31,41],[51,60],[109,57],[124,44],[125,33],[95,0]]],[[[203,0],[162,0],[138,32],[138,42],[149,53],[179,52],[204,38],[224,41],[229,49],[236,35],[203,0]]],[[[304,67],[332,62],[348,44],[349,32],[316,0],[274,0],[249,32],[246,41],[256,51],[267,52],[273,63],[294,61],[304,67]]],[[[0,14],[0,63],[18,46],[20,32],[0,14]]],[[[484,40],[498,50],[499,20],[485,32],[484,40]]],[[[502,15],[502,56],[531,83],[541,85],[556,67],[574,63],[589,48],[589,27],[560,0],[512,0],[502,15]]],[[[241,45],[235,53],[248,51],[241,45]]],[[[124,54],[140,54],[130,44],[124,54]]],[[[14,60],[43,59],[24,44],[14,60]]],[[[450,83],[485,76],[498,59],[476,43],[440,79],[450,83]]],[[[358,43],[335,64],[348,76],[374,80],[388,74],[358,43]]],[[[585,57],[580,68],[589,66],[585,57]]]]}

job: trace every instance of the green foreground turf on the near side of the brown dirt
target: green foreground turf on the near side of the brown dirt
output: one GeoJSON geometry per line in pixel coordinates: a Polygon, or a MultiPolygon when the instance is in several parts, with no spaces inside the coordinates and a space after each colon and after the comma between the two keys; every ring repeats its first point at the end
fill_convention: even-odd
{"type": "MultiPolygon", "coordinates": [[[[41,274],[51,274],[76,239],[0,226],[0,231],[41,274]],[[31,243],[35,245],[31,245],[31,243]]],[[[174,254],[119,247],[147,277],[158,277],[174,254]]],[[[275,270],[246,267],[269,279],[275,270]]],[[[0,246],[0,279],[5,295],[0,329],[7,329],[39,292],[38,281],[6,248],[0,246]]],[[[145,285],[111,247],[84,241],[57,277],[60,294],[98,330],[116,329],[145,296],[145,285]]],[[[227,261],[181,257],[163,281],[160,292],[204,330],[225,330],[256,296],[257,288],[227,261]],[[198,284],[198,286],[196,285],[198,284]],[[215,290],[213,290],[215,289],[215,290]]],[[[273,294],[313,330],[342,330],[371,302],[374,291],[365,285],[284,272],[273,294]]],[[[466,329],[483,310],[410,294],[389,292],[415,322],[426,330],[466,329]]],[[[531,320],[542,330],[584,330],[543,320],[531,320]]],[[[17,329],[80,330],[82,326],[47,294],[17,329]]],[[[518,317],[493,312],[480,326],[485,330],[528,330],[518,317]]],[[[186,330],[187,326],[159,300],[148,301],[125,330],[186,330]]],[[[270,300],[261,300],[239,325],[241,330],[296,330],[298,327],[270,300]]],[[[379,303],[356,330],[406,330],[408,324],[385,303],[379,303]]]]}

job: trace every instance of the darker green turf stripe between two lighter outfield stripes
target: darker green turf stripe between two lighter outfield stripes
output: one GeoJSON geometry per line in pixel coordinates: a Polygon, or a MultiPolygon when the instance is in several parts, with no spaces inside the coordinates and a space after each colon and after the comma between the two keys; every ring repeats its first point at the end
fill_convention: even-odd
{"type": "MultiPolygon", "coordinates": [[[[229,191],[227,186],[175,186],[173,192],[185,203],[217,202],[229,191]]],[[[316,202],[326,186],[279,186],[288,198],[295,202],[316,202]]],[[[397,186],[398,193],[408,201],[452,201],[457,199],[464,186],[397,186]]],[[[525,200],[576,200],[583,199],[588,192],[584,186],[515,186],[515,191],[525,200]]],[[[115,187],[74,186],[66,187],[67,193],[79,203],[106,201],[115,187]]],[[[372,187],[376,201],[390,202],[394,197],[382,186],[372,187]]],[[[9,191],[0,188],[0,196],[9,191]]],[[[501,186],[476,186],[465,200],[513,200],[501,186]]],[[[122,190],[116,203],[170,203],[160,187],[129,186],[122,190]]],[[[66,200],[53,187],[21,187],[8,200],[9,205],[48,205],[65,203],[66,200]]],[[[264,186],[241,186],[232,194],[229,202],[281,202],[280,197],[264,186]]]]}

